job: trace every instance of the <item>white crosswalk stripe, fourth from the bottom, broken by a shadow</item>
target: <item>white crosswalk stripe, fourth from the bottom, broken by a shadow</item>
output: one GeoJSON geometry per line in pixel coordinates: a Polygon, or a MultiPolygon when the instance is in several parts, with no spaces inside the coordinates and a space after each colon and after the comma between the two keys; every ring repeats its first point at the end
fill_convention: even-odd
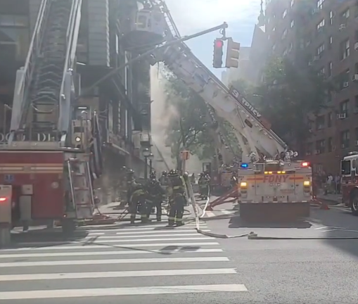
{"type": "MultiPolygon", "coordinates": [[[[63,245],[66,245],[68,242],[63,242],[63,245]]],[[[71,242],[70,242],[71,243],[71,242]]],[[[73,244],[79,244],[78,242],[73,244]]],[[[18,246],[46,246],[51,245],[51,242],[41,242],[41,243],[18,243],[18,246]]],[[[217,242],[193,242],[193,243],[142,243],[142,244],[133,244],[133,243],[126,243],[121,244],[121,247],[129,247],[132,249],[140,248],[140,247],[167,247],[167,246],[220,246],[217,242]]],[[[82,246],[53,246],[53,247],[24,247],[24,248],[16,248],[16,249],[2,249],[0,252],[6,252],[6,251],[52,251],[52,250],[74,250],[74,249],[98,249],[98,248],[108,248],[108,245],[87,245],[86,243],[83,243],[82,246]]],[[[0,253],[0,254],[1,254],[0,253]]]]}

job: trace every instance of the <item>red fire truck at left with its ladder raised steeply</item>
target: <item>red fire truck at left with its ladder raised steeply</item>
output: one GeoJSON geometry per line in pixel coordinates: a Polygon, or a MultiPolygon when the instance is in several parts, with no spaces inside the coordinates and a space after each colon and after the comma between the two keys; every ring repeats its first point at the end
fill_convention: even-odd
{"type": "Polygon", "coordinates": [[[81,5],[41,1],[25,66],[16,74],[11,133],[0,147],[12,227],[58,220],[70,233],[94,214],[102,142],[96,107],[75,96],[81,5]]]}

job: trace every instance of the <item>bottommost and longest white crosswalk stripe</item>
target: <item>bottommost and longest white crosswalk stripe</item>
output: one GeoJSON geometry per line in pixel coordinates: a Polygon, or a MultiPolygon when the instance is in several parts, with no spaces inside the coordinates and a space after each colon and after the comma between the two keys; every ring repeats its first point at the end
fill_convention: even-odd
{"type": "Polygon", "coordinates": [[[58,289],[39,291],[0,292],[0,300],[30,300],[41,298],[82,298],[95,296],[140,296],[170,293],[212,293],[248,291],[244,284],[148,286],[105,289],[58,289]]]}

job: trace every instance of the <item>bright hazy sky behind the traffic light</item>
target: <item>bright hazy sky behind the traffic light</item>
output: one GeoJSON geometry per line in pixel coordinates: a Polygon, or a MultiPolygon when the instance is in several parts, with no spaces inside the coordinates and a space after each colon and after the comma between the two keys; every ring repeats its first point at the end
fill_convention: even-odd
{"type": "MultiPolygon", "coordinates": [[[[226,22],[226,37],[250,46],[254,25],[260,14],[260,0],[166,0],[181,36],[195,34],[226,22]]],[[[193,53],[219,78],[224,69],[212,68],[212,51],[219,31],[186,42],[193,53]]]]}

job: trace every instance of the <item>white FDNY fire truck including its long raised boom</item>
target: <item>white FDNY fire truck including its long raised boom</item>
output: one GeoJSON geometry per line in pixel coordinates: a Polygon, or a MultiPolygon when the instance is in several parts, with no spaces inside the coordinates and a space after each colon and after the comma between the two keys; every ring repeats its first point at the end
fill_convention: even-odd
{"type": "MultiPolygon", "coordinates": [[[[165,3],[153,0],[151,4],[153,10],[165,16],[166,40],[181,37],[165,3]]],[[[146,13],[150,18],[151,11],[146,13]]],[[[143,30],[150,32],[151,28],[143,30]]],[[[238,170],[241,216],[255,213],[255,210],[308,216],[312,200],[312,167],[305,161],[295,160],[298,154],[288,150],[286,143],[245,97],[237,90],[227,88],[184,42],[153,50],[151,64],[158,62],[163,62],[204,99],[215,115],[233,127],[243,151],[238,170]]]]}

